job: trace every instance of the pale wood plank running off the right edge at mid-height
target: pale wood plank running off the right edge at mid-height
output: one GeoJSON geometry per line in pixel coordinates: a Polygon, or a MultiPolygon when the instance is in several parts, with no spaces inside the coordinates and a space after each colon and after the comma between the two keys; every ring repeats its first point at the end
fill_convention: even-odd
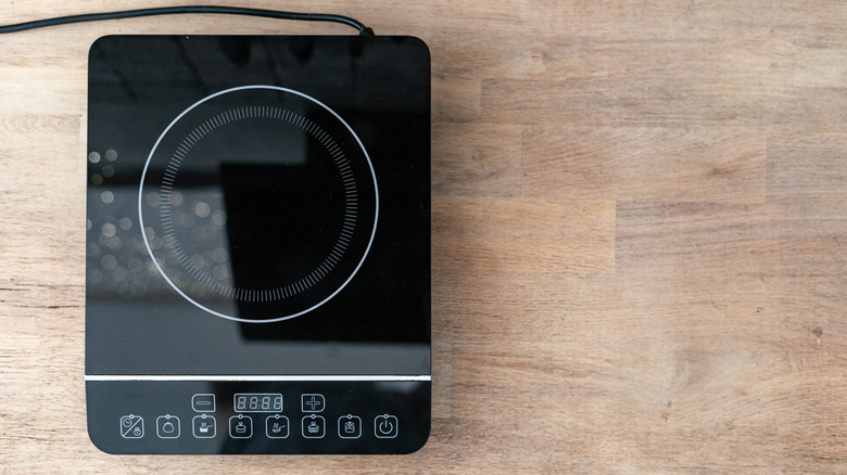
{"type": "Polygon", "coordinates": [[[845,244],[845,219],[785,219],[767,206],[618,205],[620,272],[840,275],[845,244]]]}

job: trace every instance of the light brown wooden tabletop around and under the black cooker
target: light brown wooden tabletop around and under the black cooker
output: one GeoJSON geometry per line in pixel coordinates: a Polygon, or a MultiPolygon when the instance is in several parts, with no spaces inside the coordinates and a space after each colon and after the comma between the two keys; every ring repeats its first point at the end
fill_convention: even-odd
{"type": "MultiPolygon", "coordinates": [[[[0,23],[174,3],[3,1],[0,23]]],[[[428,445],[114,457],[89,441],[89,46],[355,33],[155,17],[0,37],[0,472],[847,473],[847,3],[249,5],[431,49],[428,445]]]]}

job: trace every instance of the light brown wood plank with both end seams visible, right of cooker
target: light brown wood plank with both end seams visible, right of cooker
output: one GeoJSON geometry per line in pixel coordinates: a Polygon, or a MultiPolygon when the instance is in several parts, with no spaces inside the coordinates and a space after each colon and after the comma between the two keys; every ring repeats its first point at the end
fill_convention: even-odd
{"type": "Polygon", "coordinates": [[[759,130],[533,126],[523,192],[621,201],[763,203],[759,130]]]}

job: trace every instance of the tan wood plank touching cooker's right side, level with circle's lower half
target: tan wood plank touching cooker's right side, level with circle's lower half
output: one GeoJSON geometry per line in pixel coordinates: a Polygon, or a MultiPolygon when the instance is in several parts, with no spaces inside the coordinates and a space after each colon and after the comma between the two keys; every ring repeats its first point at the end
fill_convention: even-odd
{"type": "Polygon", "coordinates": [[[439,197],[433,262],[483,272],[610,272],[614,226],[611,202],[439,197]]]}

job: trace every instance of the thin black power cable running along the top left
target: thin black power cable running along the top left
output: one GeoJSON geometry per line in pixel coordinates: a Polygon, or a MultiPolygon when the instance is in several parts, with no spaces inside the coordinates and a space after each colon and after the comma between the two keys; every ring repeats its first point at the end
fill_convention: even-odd
{"type": "Polygon", "coordinates": [[[102,20],[132,18],[138,16],[153,15],[177,15],[177,14],[224,14],[224,15],[248,15],[264,16],[266,18],[293,20],[302,22],[333,22],[352,26],[358,30],[362,36],[374,35],[374,30],[363,25],[361,22],[349,16],[334,15],[329,13],[296,13],[282,12],[278,10],[245,9],[240,7],[214,7],[214,5],[186,5],[186,7],[164,7],[156,9],[126,10],[123,12],[108,13],[87,13],[81,15],[59,16],[55,18],[37,20],[34,22],[17,23],[14,25],[0,26],[0,34],[23,31],[25,29],[43,28],[48,26],[65,25],[68,23],[98,22],[102,20]]]}

